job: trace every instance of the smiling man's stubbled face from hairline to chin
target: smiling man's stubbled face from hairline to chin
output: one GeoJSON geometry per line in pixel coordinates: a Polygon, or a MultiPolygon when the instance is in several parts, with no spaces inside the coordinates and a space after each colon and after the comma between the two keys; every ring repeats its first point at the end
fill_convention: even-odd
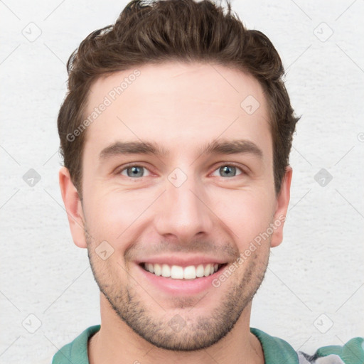
{"type": "Polygon", "coordinates": [[[289,192],[281,200],[274,194],[267,101],[257,80],[200,63],[138,70],[120,95],[112,90],[133,70],[92,85],[85,118],[105,96],[114,100],[86,131],[80,215],[87,234],[78,238],[77,224],[71,230],[78,246],[87,245],[100,291],[123,324],[155,346],[197,350],[250,310],[269,248],[282,240],[283,223],[274,232],[269,226],[286,212],[289,192]],[[141,141],[166,154],[109,148],[141,141]],[[232,141],[243,141],[235,144],[240,153],[203,153],[232,141]],[[144,262],[204,262],[204,274],[208,262],[227,265],[213,277],[182,280],[146,272],[144,262]]]}

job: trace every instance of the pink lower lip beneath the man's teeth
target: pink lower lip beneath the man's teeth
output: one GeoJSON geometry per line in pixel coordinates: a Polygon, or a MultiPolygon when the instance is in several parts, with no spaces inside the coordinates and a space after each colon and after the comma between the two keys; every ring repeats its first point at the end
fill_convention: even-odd
{"type": "Polygon", "coordinates": [[[228,264],[224,264],[218,271],[208,277],[200,277],[196,279],[172,279],[171,277],[157,276],[154,273],[148,272],[137,264],[138,269],[143,274],[143,277],[157,287],[161,291],[170,295],[191,295],[198,294],[213,287],[213,280],[218,278],[228,264]]]}

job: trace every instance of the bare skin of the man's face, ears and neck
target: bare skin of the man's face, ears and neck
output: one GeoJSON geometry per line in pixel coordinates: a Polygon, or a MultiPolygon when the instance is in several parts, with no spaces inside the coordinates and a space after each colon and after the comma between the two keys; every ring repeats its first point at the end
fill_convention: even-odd
{"type": "MultiPolygon", "coordinates": [[[[262,346],[250,333],[252,297],[270,248],[282,242],[283,223],[220,287],[200,294],[172,296],[150,287],[134,263],[178,252],[232,263],[286,215],[291,167],[276,195],[262,87],[254,77],[223,65],[170,62],[138,70],[141,75],[87,127],[82,203],[67,168],[59,174],[73,241],[87,248],[100,287],[101,329],[89,341],[90,363],[224,364],[242,358],[264,363],[262,346]],[[248,95],[260,104],[253,114],[240,107],[248,95]],[[198,154],[220,138],[252,141],[262,159],[198,154]],[[114,141],[141,140],[155,141],[170,154],[99,159],[114,141]],[[135,177],[124,167],[129,163],[145,168],[135,177]],[[237,169],[228,174],[220,169],[231,163],[237,169]],[[177,167],[187,176],[178,188],[168,180],[177,167]],[[102,241],[114,249],[106,260],[95,252],[102,241]],[[176,315],[185,323],[178,332],[168,325],[176,315]]],[[[99,78],[85,115],[132,71],[99,78]]]]}

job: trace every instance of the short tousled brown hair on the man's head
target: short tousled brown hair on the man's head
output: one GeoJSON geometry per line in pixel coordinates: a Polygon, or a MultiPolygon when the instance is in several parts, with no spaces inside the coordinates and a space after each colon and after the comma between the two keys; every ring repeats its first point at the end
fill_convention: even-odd
{"type": "Polygon", "coordinates": [[[239,16],[210,0],[133,0],[113,25],[93,31],[68,59],[68,93],[58,114],[60,154],[82,200],[85,133],[68,137],[82,124],[87,97],[97,77],[147,63],[173,60],[211,62],[250,73],[269,105],[274,188],[279,193],[289,164],[294,115],[277,50],[260,31],[247,30],[239,16]]]}

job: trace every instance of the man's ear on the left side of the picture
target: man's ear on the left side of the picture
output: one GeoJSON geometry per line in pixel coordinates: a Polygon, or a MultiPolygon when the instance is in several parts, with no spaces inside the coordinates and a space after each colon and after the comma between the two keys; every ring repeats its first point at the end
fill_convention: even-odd
{"type": "Polygon", "coordinates": [[[85,225],[80,196],[73,185],[68,168],[62,167],[59,172],[60,193],[67,212],[68,223],[77,247],[87,247],[85,238],[85,225]]]}

